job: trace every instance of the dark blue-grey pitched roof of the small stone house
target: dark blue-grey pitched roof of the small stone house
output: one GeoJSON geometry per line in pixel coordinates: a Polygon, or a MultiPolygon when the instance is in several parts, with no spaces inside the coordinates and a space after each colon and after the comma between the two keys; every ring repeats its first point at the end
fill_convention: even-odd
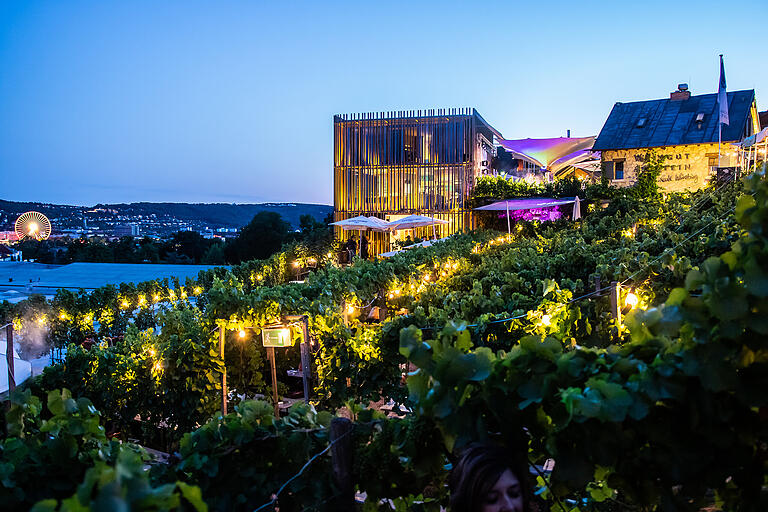
{"type": "MultiPolygon", "coordinates": [[[[728,93],[729,125],[722,140],[739,141],[755,101],[754,89],[728,93]]],[[[632,149],[717,142],[717,94],[616,103],[592,149],[632,149]],[[697,117],[703,114],[701,122],[697,117]]]]}

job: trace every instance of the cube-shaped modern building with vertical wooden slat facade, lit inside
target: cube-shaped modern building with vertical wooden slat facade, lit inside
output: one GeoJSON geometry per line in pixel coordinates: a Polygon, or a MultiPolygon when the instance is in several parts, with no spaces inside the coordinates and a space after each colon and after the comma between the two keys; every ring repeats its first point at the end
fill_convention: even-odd
{"type": "MultiPolygon", "coordinates": [[[[501,138],[472,108],[334,116],[334,220],[419,214],[449,221],[438,237],[471,229],[467,198],[501,138]]],[[[348,235],[337,228],[337,238],[348,235]]],[[[389,233],[366,236],[371,253],[389,250],[389,233]]]]}

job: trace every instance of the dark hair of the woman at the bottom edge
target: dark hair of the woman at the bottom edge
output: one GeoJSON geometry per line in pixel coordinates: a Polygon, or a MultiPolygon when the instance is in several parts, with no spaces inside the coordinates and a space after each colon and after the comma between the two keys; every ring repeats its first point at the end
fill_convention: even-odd
{"type": "Polygon", "coordinates": [[[530,510],[527,467],[501,446],[474,443],[461,453],[459,461],[451,470],[448,480],[451,512],[478,512],[485,495],[508,469],[520,482],[523,510],[530,510]]]}

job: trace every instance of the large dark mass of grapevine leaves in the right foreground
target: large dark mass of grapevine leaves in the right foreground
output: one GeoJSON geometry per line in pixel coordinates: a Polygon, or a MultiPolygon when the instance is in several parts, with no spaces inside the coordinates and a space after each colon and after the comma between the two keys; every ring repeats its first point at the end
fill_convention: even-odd
{"type": "Polygon", "coordinates": [[[638,507],[698,511],[714,490],[726,510],[765,509],[768,182],[752,178],[750,192],[731,250],[690,270],[665,304],[631,312],[626,344],[571,348],[539,335],[494,354],[461,327],[427,341],[404,330],[417,413],[449,449],[495,433],[532,463],[554,458],[548,485],[561,497],[616,492],[638,507]]]}

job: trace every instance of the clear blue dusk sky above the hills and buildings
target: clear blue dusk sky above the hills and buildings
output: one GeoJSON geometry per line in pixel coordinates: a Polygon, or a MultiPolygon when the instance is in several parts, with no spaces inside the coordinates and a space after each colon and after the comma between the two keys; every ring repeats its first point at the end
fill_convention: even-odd
{"type": "Polygon", "coordinates": [[[595,135],[678,83],[768,105],[768,2],[0,0],[0,198],[332,204],[333,114],[595,135]]]}

